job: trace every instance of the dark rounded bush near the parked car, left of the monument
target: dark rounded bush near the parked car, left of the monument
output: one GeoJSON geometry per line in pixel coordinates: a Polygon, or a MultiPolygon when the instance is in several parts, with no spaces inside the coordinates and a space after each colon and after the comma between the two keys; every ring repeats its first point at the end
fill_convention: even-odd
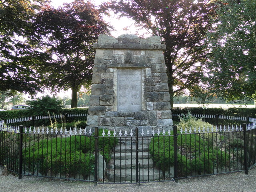
{"type": "Polygon", "coordinates": [[[36,100],[28,101],[28,105],[32,107],[30,110],[30,115],[48,115],[50,114],[59,114],[64,108],[62,100],[56,97],[42,96],[36,100]]]}

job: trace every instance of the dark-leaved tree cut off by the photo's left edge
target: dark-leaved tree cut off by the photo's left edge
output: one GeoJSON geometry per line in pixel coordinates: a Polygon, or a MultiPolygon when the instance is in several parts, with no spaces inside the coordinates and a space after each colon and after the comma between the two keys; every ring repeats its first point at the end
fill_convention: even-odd
{"type": "MultiPolygon", "coordinates": [[[[38,74],[33,65],[38,61],[30,54],[34,44],[27,38],[32,33],[31,20],[47,0],[0,0],[0,91],[15,90],[31,94],[40,91],[38,74]]],[[[36,54],[36,52],[34,52],[36,54]]]]}

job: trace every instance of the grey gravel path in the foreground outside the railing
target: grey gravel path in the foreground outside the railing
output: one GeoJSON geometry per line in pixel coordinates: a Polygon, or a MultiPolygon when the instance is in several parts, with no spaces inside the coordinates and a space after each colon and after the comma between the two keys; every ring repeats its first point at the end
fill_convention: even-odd
{"type": "Polygon", "coordinates": [[[189,178],[175,182],[154,182],[144,184],[98,184],[49,180],[25,177],[18,179],[12,174],[3,175],[0,168],[0,192],[256,192],[256,167],[244,172],[189,178]]]}

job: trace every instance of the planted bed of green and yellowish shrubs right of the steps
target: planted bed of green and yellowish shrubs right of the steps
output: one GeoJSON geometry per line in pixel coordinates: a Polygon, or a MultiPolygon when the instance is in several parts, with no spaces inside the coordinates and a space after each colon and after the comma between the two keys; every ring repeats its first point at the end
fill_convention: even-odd
{"type": "MultiPolygon", "coordinates": [[[[171,136],[153,136],[150,142],[154,163],[164,172],[174,166],[173,134],[172,131],[171,136]]],[[[242,135],[240,130],[220,132],[215,126],[190,114],[183,116],[178,124],[178,176],[241,170],[244,159],[242,135]],[[205,133],[202,133],[203,128],[205,133]]]]}

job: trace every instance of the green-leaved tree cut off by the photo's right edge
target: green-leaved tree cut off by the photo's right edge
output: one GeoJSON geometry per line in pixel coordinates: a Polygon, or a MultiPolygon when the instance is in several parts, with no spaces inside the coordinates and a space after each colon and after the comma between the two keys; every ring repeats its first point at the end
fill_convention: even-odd
{"type": "Polygon", "coordinates": [[[209,34],[208,79],[226,100],[256,99],[256,1],[222,0],[209,34]]]}

